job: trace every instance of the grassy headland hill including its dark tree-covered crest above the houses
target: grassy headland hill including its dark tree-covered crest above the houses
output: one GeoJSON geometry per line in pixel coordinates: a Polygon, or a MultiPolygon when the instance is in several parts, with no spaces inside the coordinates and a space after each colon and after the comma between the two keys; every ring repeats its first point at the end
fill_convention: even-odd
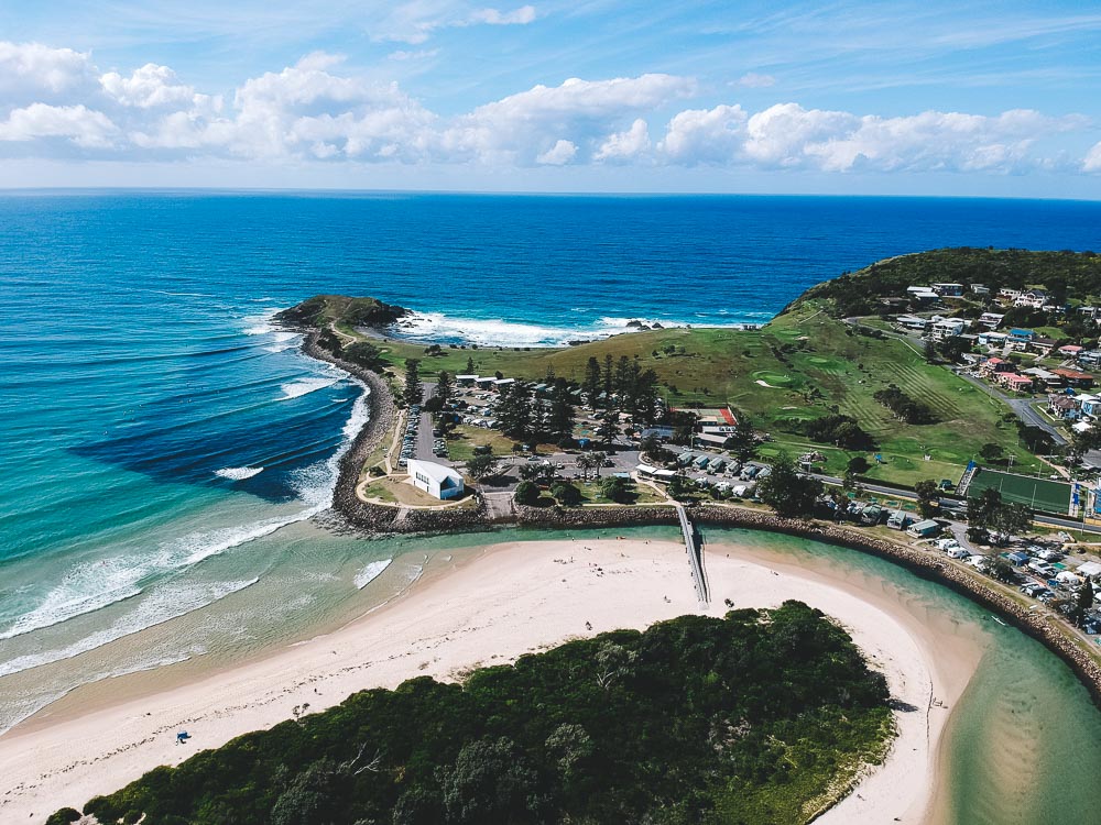
{"type": "MultiPolygon", "coordinates": [[[[772,322],[752,331],[659,329],[562,349],[442,346],[437,354],[427,354],[423,344],[381,339],[372,343],[381,348],[384,365],[400,372],[406,359],[417,358],[425,375],[439,370],[462,373],[472,361],[475,372],[482,375],[501,372],[542,380],[554,370],[580,382],[590,358],[601,364],[607,355],[617,361],[622,355],[637,358],[643,369],[658,375],[672,406],[730,404],[770,433],[773,442],[764,447],[765,455],[780,449],[793,453],[817,449],[827,457],[826,469],[838,475],[858,453],[813,443],[800,432],[804,421],[836,414],[854,418],[877,443],[876,450],[860,454],[882,457],[869,476],[883,481],[906,485],[924,479],[957,481],[988,442],[1013,455],[1017,471],[1044,470],[1018,444],[1016,418],[1004,404],[948,370],[926,363],[915,344],[861,336],[840,320],[851,314],[854,300],[936,280],[982,280],[994,290],[1044,284],[1053,293],[1067,290],[1072,298],[1088,298],[1101,295],[1101,256],[972,249],[903,255],[811,288],[772,322]],[[936,421],[911,425],[895,418],[874,399],[876,391],[892,384],[928,406],[936,421]]],[[[342,339],[360,337],[355,330],[360,322],[344,311],[355,302],[333,296],[325,300],[326,311],[319,317],[328,319],[342,339]]]]}

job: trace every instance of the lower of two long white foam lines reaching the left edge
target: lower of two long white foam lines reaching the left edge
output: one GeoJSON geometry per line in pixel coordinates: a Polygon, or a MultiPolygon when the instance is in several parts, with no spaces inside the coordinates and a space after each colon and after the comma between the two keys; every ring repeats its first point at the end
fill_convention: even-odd
{"type": "MultiPolygon", "coordinates": [[[[17,656],[13,659],[0,662],[0,676],[19,673],[31,668],[39,668],[43,664],[51,664],[64,659],[72,659],[74,656],[86,653],[89,650],[95,650],[126,636],[140,632],[146,628],[183,616],[192,610],[211,605],[228,595],[238,593],[246,587],[251,587],[259,581],[260,579],[257,576],[239,582],[208,582],[185,586],[178,586],[170,582],[150,592],[138,604],[134,610],[120,616],[110,627],[89,634],[64,648],[17,656]]],[[[152,664],[150,667],[156,666],[152,664]]]]}

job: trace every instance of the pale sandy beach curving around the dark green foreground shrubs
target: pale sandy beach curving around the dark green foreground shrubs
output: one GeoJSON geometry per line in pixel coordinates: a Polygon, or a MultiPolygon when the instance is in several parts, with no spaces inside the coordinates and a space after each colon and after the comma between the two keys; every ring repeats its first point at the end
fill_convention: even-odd
{"type": "MultiPolygon", "coordinates": [[[[937,747],[981,648],[939,632],[922,609],[859,583],[709,546],[712,604],[770,607],[802,600],[838,620],[883,672],[898,738],[886,762],[819,822],[925,822],[937,747]]],[[[324,710],[366,688],[430,675],[455,680],[563,640],[642,628],[701,612],[684,547],[645,540],[498,544],[414,585],[344,628],[153,695],[26,721],[0,737],[0,820],[42,822],[79,809],[159,765],[175,765],[249,730],[324,710]],[[591,629],[590,629],[591,627],[591,629]],[[192,739],[176,745],[177,730],[192,739]]],[[[74,694],[74,698],[78,697],[74,694]]]]}

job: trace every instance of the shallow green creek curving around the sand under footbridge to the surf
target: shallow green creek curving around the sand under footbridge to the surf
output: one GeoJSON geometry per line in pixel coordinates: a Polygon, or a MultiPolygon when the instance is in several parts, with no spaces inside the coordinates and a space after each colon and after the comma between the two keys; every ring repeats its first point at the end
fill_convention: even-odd
{"type": "MultiPolygon", "coordinates": [[[[1089,822],[1099,810],[1101,791],[1092,780],[1101,771],[1101,713],[1070,670],[1038,642],[994,623],[986,610],[948,588],[855,550],[760,530],[706,528],[705,532],[708,556],[729,552],[780,574],[813,576],[859,593],[904,623],[924,626],[938,640],[938,658],[949,681],[953,671],[973,670],[969,681],[963,676],[958,701],[944,711],[947,727],[937,750],[933,809],[925,820],[1039,825],[1089,822]],[[1068,754],[1073,759],[1067,759],[1068,754]]],[[[78,688],[13,733],[33,732],[120,697],[155,694],[330,632],[411,585],[446,579],[486,547],[618,536],[678,538],[675,529],[652,527],[570,534],[508,529],[363,541],[334,536],[312,524],[295,525],[264,539],[266,548],[258,548],[270,561],[277,551],[258,583],[208,608],[103,646],[95,657],[74,657],[65,672],[68,678],[81,672],[94,675],[92,671],[118,667],[151,647],[167,652],[165,667],[154,663],[144,672],[78,688]],[[292,587],[298,609],[272,612],[273,603],[294,607],[287,603],[292,587]],[[171,658],[179,651],[165,648],[167,639],[203,652],[186,661],[171,658]]],[[[687,578],[684,584],[690,586],[687,578]]],[[[712,593],[712,612],[724,609],[721,593],[712,593]]],[[[0,703],[14,701],[17,681],[18,674],[0,680],[0,703]]]]}

